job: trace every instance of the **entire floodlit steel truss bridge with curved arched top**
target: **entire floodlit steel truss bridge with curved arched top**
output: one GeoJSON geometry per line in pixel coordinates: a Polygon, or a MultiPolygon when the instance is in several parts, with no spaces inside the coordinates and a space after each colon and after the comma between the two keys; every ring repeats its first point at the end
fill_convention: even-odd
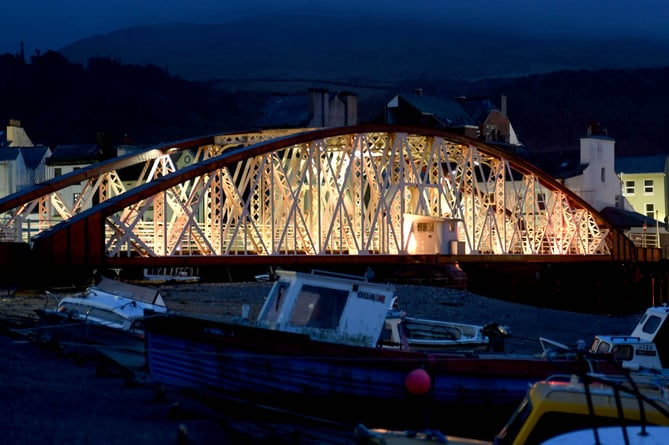
{"type": "Polygon", "coordinates": [[[523,160],[397,126],[231,133],[110,159],[0,200],[48,264],[626,261],[636,248],[523,160]],[[194,153],[177,169],[175,155],[194,153]],[[123,169],[143,166],[132,183],[123,169]],[[78,185],[71,206],[62,190],[78,185]],[[355,259],[354,259],[355,258],[355,259]]]}

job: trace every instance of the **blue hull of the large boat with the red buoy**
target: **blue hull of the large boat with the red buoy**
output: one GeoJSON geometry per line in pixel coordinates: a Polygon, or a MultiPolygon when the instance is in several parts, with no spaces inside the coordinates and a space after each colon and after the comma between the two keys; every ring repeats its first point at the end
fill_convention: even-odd
{"type": "Polygon", "coordinates": [[[485,409],[499,415],[497,428],[531,383],[578,366],[534,356],[356,347],[183,316],[147,320],[145,332],[146,363],[158,383],[379,427],[446,422],[451,431],[453,415],[485,409]],[[417,369],[425,373],[411,377],[417,369]]]}

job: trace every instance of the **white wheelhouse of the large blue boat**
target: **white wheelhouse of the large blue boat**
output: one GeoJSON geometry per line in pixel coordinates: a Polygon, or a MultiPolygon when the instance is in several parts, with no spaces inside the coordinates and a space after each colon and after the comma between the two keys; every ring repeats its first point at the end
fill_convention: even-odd
{"type": "Polygon", "coordinates": [[[331,343],[376,347],[396,289],[326,271],[276,271],[256,324],[331,343]]]}

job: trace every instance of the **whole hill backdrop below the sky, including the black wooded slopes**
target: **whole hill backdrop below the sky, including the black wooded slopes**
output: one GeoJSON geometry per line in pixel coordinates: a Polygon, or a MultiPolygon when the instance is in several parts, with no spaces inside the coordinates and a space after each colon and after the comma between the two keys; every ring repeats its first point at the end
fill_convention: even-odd
{"type": "Polygon", "coordinates": [[[577,149],[598,121],[620,154],[669,153],[663,43],[533,40],[471,21],[291,17],[125,29],[25,66],[5,55],[0,119],[21,119],[47,145],[90,142],[100,131],[156,143],[251,129],[273,93],[352,91],[365,122],[419,87],[442,97],[505,94],[529,150],[577,149]]]}

